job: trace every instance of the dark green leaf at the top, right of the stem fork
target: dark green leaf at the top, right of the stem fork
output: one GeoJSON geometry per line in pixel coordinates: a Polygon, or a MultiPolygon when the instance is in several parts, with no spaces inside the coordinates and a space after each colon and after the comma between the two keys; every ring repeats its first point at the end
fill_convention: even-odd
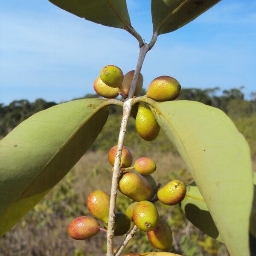
{"type": "Polygon", "coordinates": [[[186,25],[220,0],[151,0],[154,32],[169,33],[186,25]]]}

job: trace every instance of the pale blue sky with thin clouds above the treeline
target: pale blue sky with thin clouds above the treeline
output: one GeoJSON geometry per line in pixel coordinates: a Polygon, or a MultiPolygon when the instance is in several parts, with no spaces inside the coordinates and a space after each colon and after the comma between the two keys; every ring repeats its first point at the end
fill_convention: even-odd
{"type": "MultiPolygon", "coordinates": [[[[131,23],[149,42],[149,0],[128,0],[131,23]]],[[[94,93],[102,67],[124,73],[137,63],[128,32],[81,19],[47,0],[0,2],[0,103],[16,99],[68,101],[94,93]]],[[[256,91],[256,0],[222,0],[175,32],[160,35],[142,69],[144,87],[173,76],[182,87],[244,86],[256,91]]]]}

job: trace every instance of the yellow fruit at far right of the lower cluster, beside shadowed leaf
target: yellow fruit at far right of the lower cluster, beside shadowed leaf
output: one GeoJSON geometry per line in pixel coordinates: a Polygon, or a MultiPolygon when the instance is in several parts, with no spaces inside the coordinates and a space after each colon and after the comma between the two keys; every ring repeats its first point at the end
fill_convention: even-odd
{"type": "Polygon", "coordinates": [[[163,183],[157,191],[160,202],[167,205],[179,204],[186,195],[186,186],[180,180],[163,183]]]}

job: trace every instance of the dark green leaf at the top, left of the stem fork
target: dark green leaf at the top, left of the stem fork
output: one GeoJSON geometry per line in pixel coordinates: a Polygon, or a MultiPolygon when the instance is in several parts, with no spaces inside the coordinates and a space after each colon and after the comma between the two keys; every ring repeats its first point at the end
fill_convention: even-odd
{"type": "Polygon", "coordinates": [[[86,20],[126,29],[131,26],[125,0],[49,0],[56,6],[86,20]]]}

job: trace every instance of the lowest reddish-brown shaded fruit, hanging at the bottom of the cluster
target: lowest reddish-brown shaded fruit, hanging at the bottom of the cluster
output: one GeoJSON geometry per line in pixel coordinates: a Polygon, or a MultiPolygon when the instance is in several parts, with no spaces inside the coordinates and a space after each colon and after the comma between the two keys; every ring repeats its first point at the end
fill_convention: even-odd
{"type": "Polygon", "coordinates": [[[163,219],[160,219],[157,227],[147,235],[150,243],[157,249],[167,250],[172,247],[172,230],[163,219]]]}

